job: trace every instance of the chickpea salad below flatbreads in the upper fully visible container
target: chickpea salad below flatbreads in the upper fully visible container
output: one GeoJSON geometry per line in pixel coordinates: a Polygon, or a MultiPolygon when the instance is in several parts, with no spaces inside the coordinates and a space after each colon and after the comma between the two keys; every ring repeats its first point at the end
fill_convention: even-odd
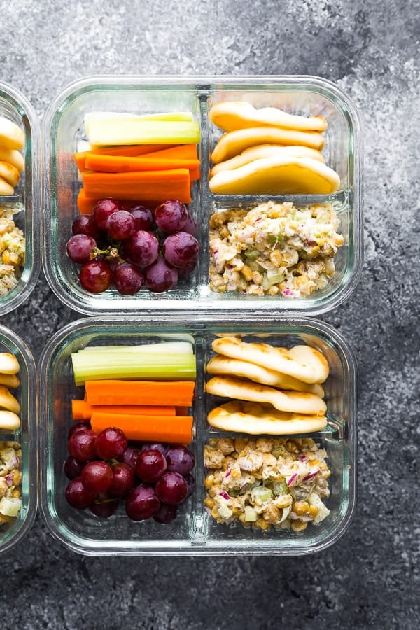
{"type": "Polygon", "coordinates": [[[273,201],[210,218],[209,284],[216,293],[306,297],[335,274],[344,243],[332,204],[273,201]]]}

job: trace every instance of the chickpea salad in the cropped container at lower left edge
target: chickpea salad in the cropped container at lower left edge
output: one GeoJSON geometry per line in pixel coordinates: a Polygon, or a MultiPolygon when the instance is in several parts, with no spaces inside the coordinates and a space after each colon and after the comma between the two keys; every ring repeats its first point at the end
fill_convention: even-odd
{"type": "Polygon", "coordinates": [[[21,462],[18,442],[0,442],[0,525],[17,517],[22,507],[21,462]]]}

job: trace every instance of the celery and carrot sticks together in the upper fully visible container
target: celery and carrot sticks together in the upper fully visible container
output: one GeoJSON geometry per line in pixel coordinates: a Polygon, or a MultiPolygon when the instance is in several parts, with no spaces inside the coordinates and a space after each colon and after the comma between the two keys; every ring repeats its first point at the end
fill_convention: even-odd
{"type": "Polygon", "coordinates": [[[90,213],[92,202],[104,197],[191,201],[190,188],[200,178],[200,128],[192,113],[92,112],[85,128],[92,148],[74,154],[83,180],[80,213],[90,213]]]}

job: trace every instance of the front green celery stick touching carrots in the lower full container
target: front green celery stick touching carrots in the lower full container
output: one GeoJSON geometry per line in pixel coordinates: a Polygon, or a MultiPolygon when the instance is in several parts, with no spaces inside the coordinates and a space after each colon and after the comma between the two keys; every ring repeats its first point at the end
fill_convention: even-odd
{"type": "Polygon", "coordinates": [[[194,380],[195,355],[75,352],[71,355],[76,385],[99,379],[194,380]]]}

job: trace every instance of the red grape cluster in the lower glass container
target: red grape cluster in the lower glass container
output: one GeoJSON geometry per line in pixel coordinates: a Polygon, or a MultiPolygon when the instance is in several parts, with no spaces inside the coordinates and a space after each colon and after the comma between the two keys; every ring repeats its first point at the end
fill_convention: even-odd
{"type": "Polygon", "coordinates": [[[97,517],[111,517],[123,499],[133,521],[167,524],[195,490],[195,458],[179,444],[129,444],[118,428],[96,435],[89,423],[80,422],[69,431],[68,448],[67,503],[89,508],[97,517]]]}

